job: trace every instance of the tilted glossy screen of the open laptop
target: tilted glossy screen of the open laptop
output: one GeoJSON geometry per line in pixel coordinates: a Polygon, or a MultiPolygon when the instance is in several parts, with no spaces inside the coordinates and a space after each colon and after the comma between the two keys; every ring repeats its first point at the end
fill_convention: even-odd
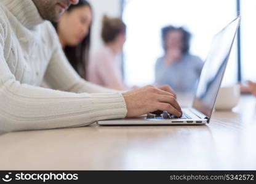
{"type": "Polygon", "coordinates": [[[236,18],[214,37],[202,68],[193,108],[207,117],[212,115],[240,19],[236,18]]]}

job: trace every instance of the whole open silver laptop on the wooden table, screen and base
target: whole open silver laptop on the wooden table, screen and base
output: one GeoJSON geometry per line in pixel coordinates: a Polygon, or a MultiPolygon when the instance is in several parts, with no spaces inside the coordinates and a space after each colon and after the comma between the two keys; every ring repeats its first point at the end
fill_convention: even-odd
{"type": "Polygon", "coordinates": [[[240,21],[241,17],[237,17],[212,40],[193,105],[191,108],[182,109],[181,118],[167,112],[161,115],[149,113],[135,118],[98,121],[98,125],[203,125],[209,123],[240,21]]]}

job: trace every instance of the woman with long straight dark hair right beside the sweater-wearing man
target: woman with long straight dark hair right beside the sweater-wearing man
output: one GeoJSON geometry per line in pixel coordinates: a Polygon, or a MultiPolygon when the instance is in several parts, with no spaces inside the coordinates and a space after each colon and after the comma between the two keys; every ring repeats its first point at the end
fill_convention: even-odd
{"type": "Polygon", "coordinates": [[[89,59],[91,23],[92,8],[85,0],[71,5],[62,14],[58,23],[52,23],[68,61],[83,79],[86,79],[89,59]]]}

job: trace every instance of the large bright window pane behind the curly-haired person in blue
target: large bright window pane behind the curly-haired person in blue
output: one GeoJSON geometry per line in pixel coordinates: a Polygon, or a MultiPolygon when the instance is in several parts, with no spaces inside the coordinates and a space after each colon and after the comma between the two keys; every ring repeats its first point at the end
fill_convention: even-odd
{"type": "MultiPolygon", "coordinates": [[[[234,18],[235,0],[126,0],[123,19],[127,25],[124,47],[127,85],[141,86],[154,82],[154,64],[163,55],[163,26],[184,26],[188,29],[193,34],[191,53],[204,60],[212,37],[234,18]]],[[[236,50],[235,44],[225,75],[226,84],[235,83],[237,79],[236,50]]]]}

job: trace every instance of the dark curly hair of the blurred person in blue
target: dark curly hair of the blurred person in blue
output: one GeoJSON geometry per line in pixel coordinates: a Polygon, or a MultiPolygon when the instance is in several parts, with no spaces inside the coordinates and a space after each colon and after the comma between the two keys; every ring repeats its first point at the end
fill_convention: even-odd
{"type": "Polygon", "coordinates": [[[190,50],[190,39],[191,39],[191,33],[186,31],[186,29],[182,27],[174,27],[174,26],[166,26],[162,28],[162,45],[164,47],[164,50],[166,51],[166,39],[167,39],[167,34],[170,33],[171,31],[180,31],[183,34],[183,48],[182,48],[182,53],[188,53],[190,50]]]}

